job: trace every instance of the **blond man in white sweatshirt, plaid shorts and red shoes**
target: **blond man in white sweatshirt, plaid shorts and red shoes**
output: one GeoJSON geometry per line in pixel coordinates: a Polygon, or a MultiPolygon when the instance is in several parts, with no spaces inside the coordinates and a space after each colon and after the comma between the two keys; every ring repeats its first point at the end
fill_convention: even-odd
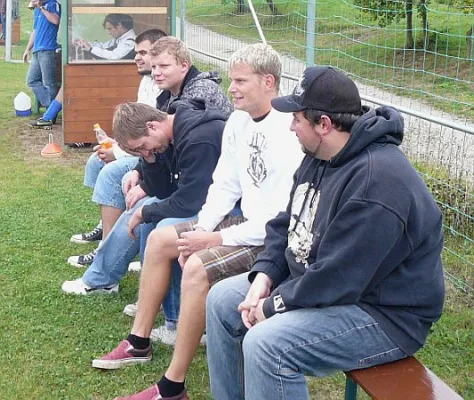
{"type": "Polygon", "coordinates": [[[157,384],[132,398],[188,398],[184,379],[204,332],[209,286],[249,270],[263,250],[265,224],[285,207],[303,158],[289,131],[290,115],[273,110],[270,103],[281,78],[278,53],[263,44],[246,46],[230,57],[229,77],[236,111],[224,130],[206,203],[197,220],[150,234],[131,334],[92,362],[96,368],[115,369],[151,360],[151,329],[168,290],[172,261],[181,253],[181,309],[173,359],[157,384]],[[243,216],[229,217],[240,198],[243,216]]]}

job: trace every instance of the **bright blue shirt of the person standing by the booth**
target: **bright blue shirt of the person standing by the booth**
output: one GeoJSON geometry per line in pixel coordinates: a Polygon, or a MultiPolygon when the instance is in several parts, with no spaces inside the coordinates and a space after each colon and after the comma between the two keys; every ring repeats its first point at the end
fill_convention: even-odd
{"type": "MultiPolygon", "coordinates": [[[[61,16],[61,7],[56,0],[43,2],[43,6],[47,11],[61,16]]],[[[55,25],[49,22],[44,16],[43,11],[38,7],[35,8],[34,18],[35,42],[33,44],[33,53],[40,50],[56,50],[58,48],[59,24],[55,25]]]]}

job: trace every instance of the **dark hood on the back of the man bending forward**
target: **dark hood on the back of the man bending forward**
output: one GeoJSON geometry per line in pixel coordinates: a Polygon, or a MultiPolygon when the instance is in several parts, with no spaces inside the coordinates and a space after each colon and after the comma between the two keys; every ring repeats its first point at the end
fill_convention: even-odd
{"type": "Polygon", "coordinates": [[[175,146],[198,125],[209,121],[224,121],[226,118],[215,107],[206,106],[202,99],[186,99],[173,102],[168,114],[175,114],[173,123],[173,137],[175,146]]]}

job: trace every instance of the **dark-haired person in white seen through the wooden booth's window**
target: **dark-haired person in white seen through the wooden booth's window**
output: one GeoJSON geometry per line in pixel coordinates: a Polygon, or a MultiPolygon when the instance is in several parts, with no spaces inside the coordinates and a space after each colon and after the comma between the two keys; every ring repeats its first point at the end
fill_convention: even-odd
{"type": "Polygon", "coordinates": [[[84,51],[85,59],[93,60],[133,60],[135,58],[135,32],[133,18],[128,14],[107,14],[104,28],[112,36],[103,43],[90,43],[84,39],[74,39],[73,44],[84,51]]]}

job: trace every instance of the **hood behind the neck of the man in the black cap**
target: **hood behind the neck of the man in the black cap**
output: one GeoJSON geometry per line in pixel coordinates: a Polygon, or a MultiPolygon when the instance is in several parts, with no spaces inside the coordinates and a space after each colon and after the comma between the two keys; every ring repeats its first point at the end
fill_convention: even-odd
{"type": "Polygon", "coordinates": [[[349,141],[330,160],[331,167],[338,167],[359,155],[372,143],[394,144],[403,140],[403,117],[392,107],[363,107],[364,114],[352,126],[349,141]]]}

